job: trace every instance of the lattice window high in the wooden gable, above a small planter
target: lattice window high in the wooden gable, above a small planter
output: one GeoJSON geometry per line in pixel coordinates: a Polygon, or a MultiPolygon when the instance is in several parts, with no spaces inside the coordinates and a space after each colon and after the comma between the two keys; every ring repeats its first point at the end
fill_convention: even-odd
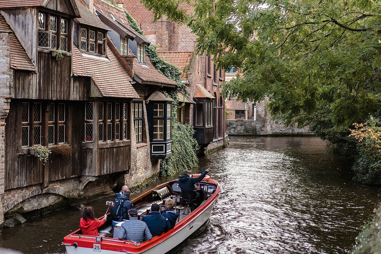
{"type": "Polygon", "coordinates": [[[49,13],[38,13],[38,48],[69,51],[68,20],[49,13]]]}

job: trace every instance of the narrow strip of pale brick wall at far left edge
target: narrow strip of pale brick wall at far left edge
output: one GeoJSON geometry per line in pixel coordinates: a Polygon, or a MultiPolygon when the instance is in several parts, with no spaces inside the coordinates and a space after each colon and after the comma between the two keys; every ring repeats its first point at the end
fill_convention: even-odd
{"type": "MultiPolygon", "coordinates": [[[[0,31],[0,196],[4,195],[5,118],[13,96],[13,70],[10,56],[10,31],[0,31]]],[[[4,222],[4,207],[0,203],[0,225],[4,222]]]]}

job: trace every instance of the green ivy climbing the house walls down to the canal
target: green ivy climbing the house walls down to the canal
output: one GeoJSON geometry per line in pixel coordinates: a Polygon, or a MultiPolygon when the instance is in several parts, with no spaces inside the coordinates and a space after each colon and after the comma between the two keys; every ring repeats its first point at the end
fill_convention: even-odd
{"type": "MultiPolygon", "coordinates": [[[[126,18],[130,23],[130,26],[139,34],[143,35],[143,31],[139,28],[136,21],[132,16],[126,12],[126,18]]],[[[196,151],[199,149],[199,144],[193,138],[194,129],[191,125],[181,124],[177,121],[177,107],[178,107],[178,90],[186,92],[186,85],[181,82],[181,72],[179,69],[159,58],[156,46],[146,46],[146,54],[149,57],[151,63],[155,66],[158,72],[162,73],[166,77],[177,83],[178,89],[172,89],[172,91],[161,91],[166,97],[173,99],[172,102],[172,154],[170,157],[160,160],[160,175],[171,176],[174,173],[194,168],[197,166],[198,158],[196,151]]]]}

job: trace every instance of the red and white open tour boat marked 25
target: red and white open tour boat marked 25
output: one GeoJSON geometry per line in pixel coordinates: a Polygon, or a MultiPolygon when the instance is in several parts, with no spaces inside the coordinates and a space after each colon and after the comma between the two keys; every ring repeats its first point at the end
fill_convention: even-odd
{"type": "Polygon", "coordinates": [[[62,244],[66,246],[67,254],[86,254],[94,253],[94,251],[104,254],[116,254],[120,252],[131,254],[164,254],[173,251],[206,224],[213,205],[218,198],[220,186],[208,176],[203,181],[195,184],[195,187],[197,192],[203,196],[203,202],[194,211],[190,211],[189,206],[187,206],[189,197],[184,197],[183,200],[178,179],[160,184],[132,200],[134,209],[138,211],[138,219],[141,219],[150,212],[149,209],[153,203],[160,205],[161,212],[164,211],[165,201],[169,198],[173,199],[176,203],[179,217],[174,228],[161,235],[154,236],[151,240],[141,243],[118,240],[118,232],[123,222],[113,227],[111,216],[108,216],[106,223],[98,229],[100,236],[82,235],[81,230],[77,229],[65,236],[62,244]]]}

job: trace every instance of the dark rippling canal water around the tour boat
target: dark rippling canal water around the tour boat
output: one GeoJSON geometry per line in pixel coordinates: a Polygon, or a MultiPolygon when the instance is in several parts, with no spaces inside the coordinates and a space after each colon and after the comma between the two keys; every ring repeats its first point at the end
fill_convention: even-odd
{"type": "MultiPolygon", "coordinates": [[[[221,185],[207,227],[176,253],[346,253],[373,216],[380,187],[352,180],[350,164],[325,152],[318,137],[230,137],[200,158],[221,185]]],[[[177,176],[160,178],[133,197],[177,176]]],[[[89,203],[96,216],[105,200],[89,203]]],[[[65,253],[62,238],[82,211],[65,209],[4,228],[0,247],[25,254],[65,253]]],[[[1,251],[0,251],[1,252],[1,251]]]]}

